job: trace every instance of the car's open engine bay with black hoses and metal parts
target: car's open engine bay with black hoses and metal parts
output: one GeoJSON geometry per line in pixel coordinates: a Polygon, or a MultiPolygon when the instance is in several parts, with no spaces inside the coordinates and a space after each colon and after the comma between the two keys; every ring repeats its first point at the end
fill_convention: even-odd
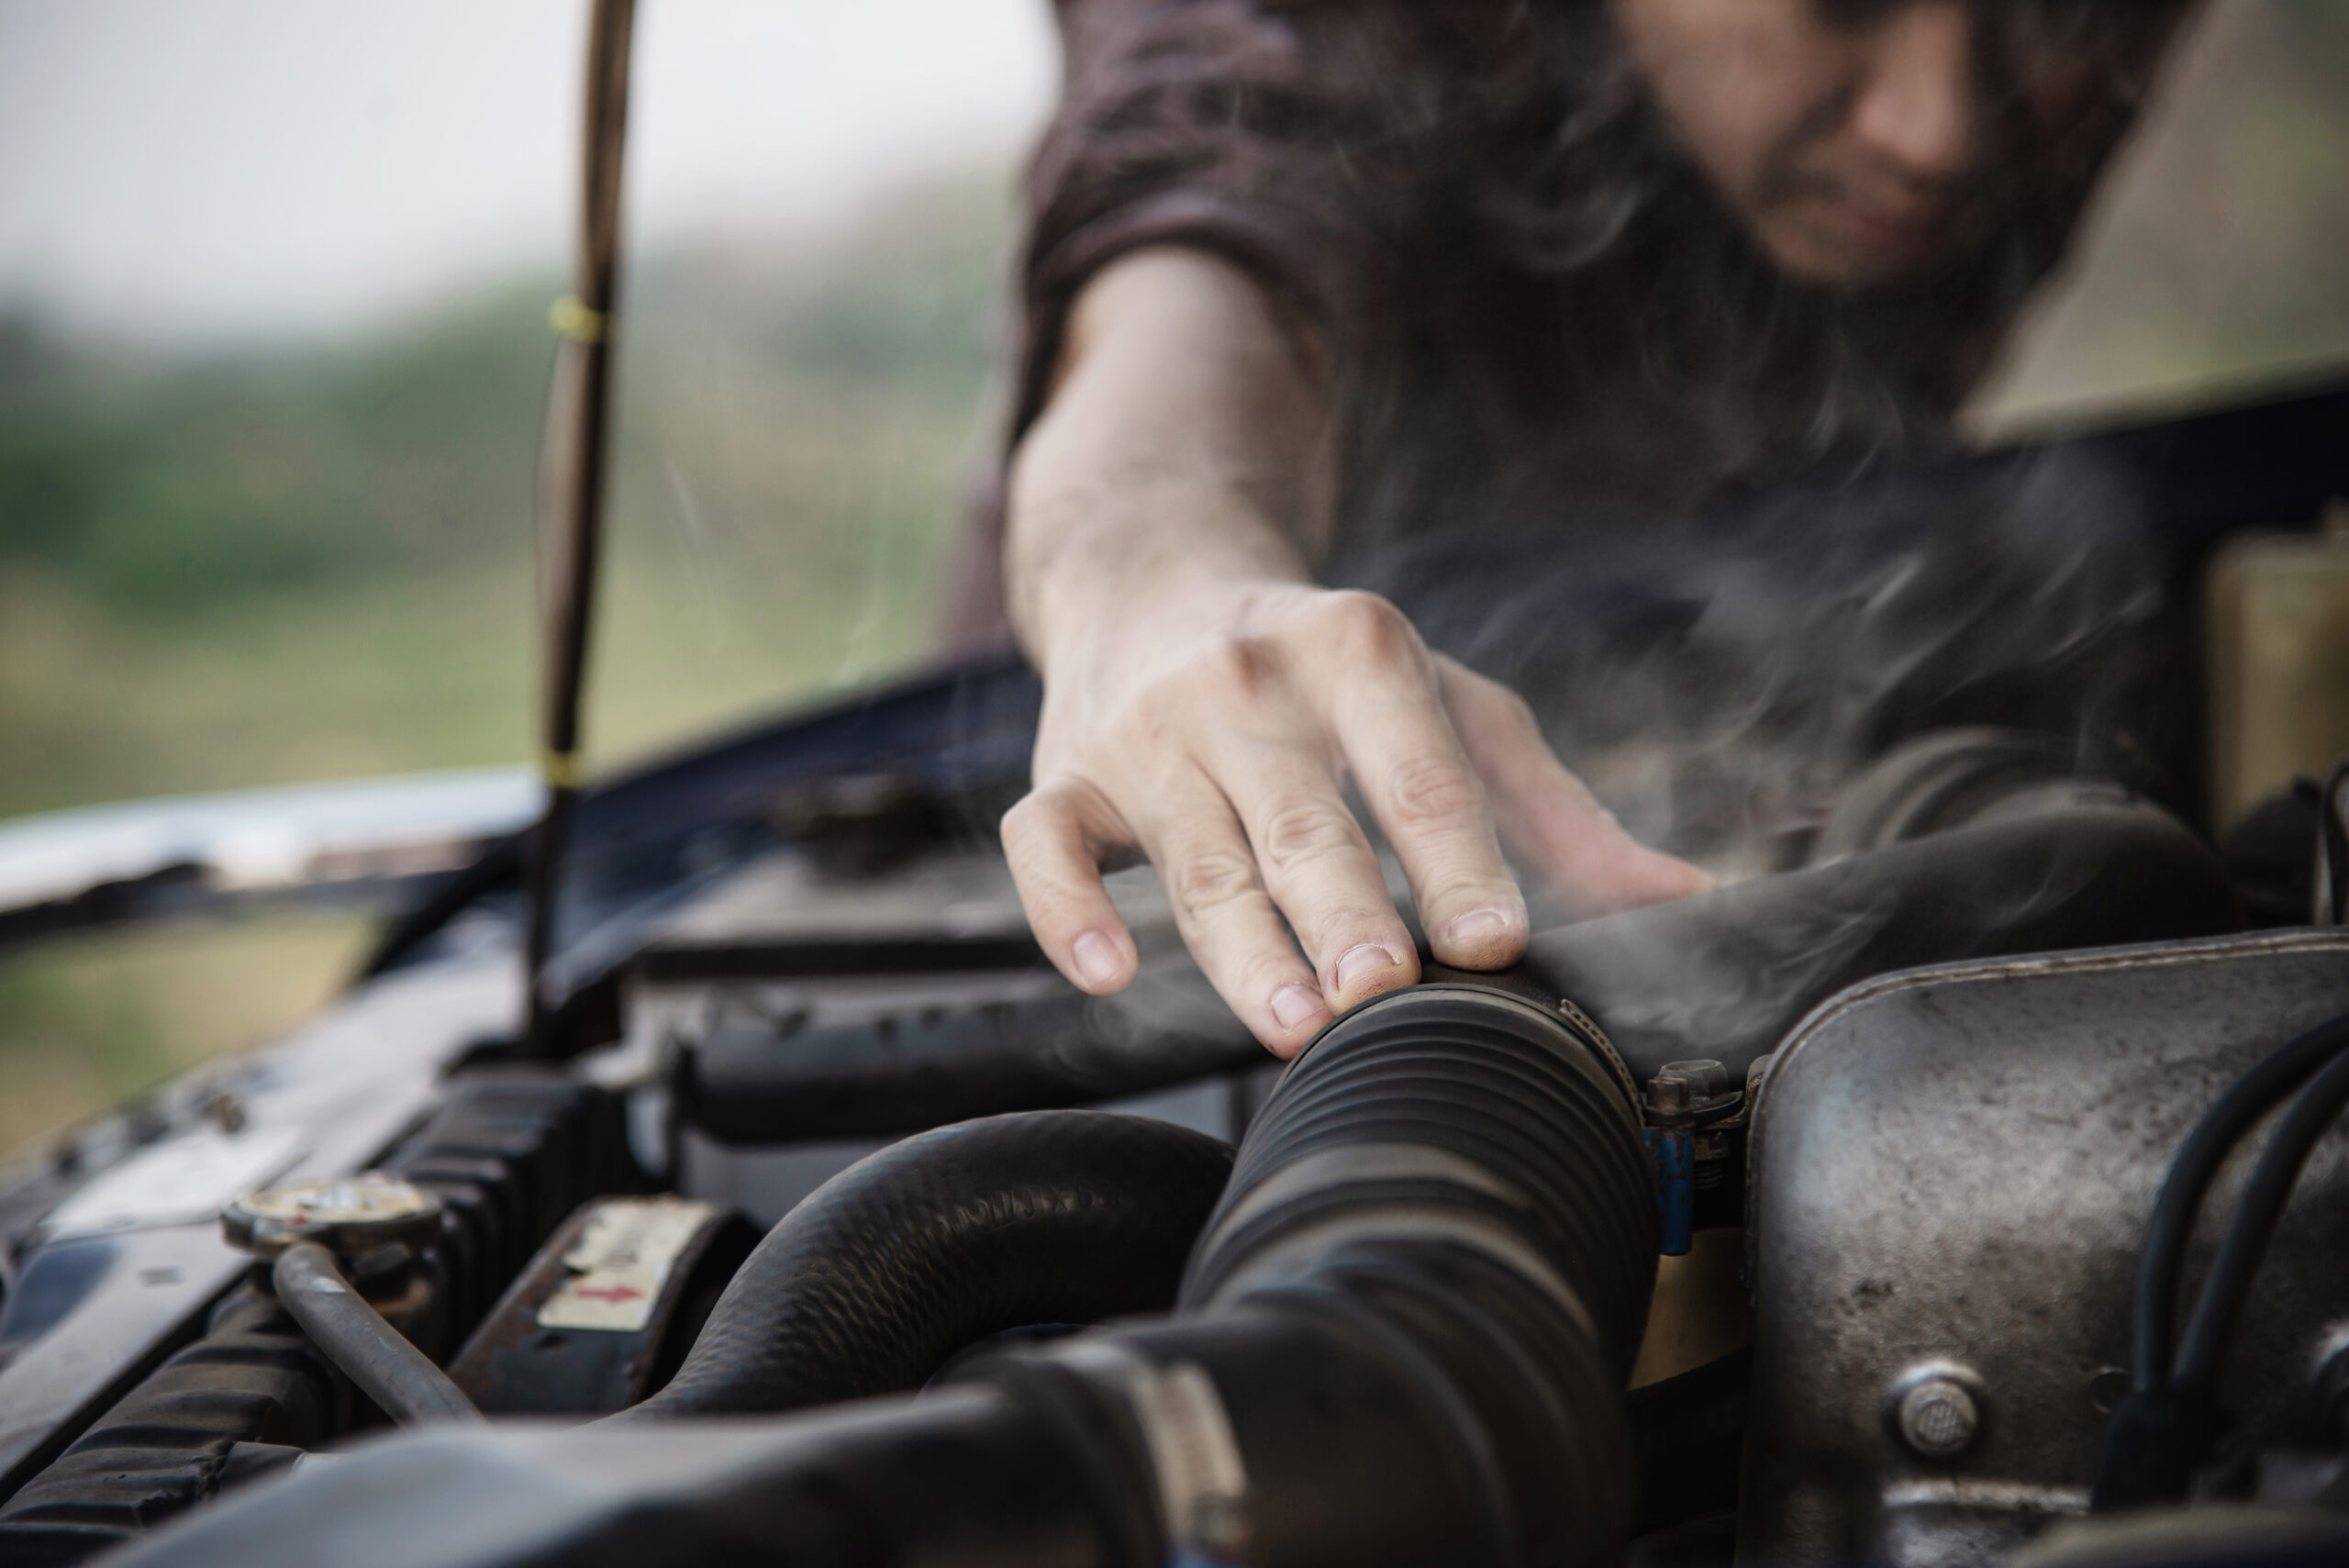
{"type": "MultiPolygon", "coordinates": [[[[2199,430],[2145,451],[2241,446],[2199,430]]],[[[2187,577],[2309,509],[2145,484],[2187,577]]],[[[1588,601],[1503,641],[1600,723],[1626,648],[1703,636],[1588,601]]],[[[559,1052],[493,843],[319,1021],[0,1192],[0,1559],[2342,1561],[2349,775],[2281,857],[2213,845],[2192,723],[2048,723],[2088,653],[1752,725],[1672,817],[1722,887],[1550,908],[1294,1063],[1146,866],[1130,991],[1043,965],[1010,660],[613,782],[559,1052]]]]}

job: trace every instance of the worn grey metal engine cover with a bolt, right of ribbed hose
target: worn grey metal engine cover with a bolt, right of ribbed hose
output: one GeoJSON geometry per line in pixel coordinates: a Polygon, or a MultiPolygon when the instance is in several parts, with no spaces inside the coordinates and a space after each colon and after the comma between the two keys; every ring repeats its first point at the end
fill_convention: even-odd
{"type": "MultiPolygon", "coordinates": [[[[1788,1035],[1750,1145],[1741,1561],[1990,1563],[2084,1514],[2170,1155],[2243,1070],[2342,1012],[2349,932],[2300,930],[1912,969],[1788,1035]]],[[[2187,1291],[2257,1143],[2206,1204],[2187,1291]]],[[[2225,1406],[2260,1420],[2302,1397],[2342,1300],[2335,1129],[2276,1228],[2225,1406]]]]}

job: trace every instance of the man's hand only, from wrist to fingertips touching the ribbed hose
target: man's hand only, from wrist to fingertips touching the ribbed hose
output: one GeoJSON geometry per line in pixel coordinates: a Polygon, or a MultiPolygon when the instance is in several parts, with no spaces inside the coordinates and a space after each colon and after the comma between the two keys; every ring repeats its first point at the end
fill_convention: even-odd
{"type": "Polygon", "coordinates": [[[1003,819],[1003,845],[1038,941],[1085,991],[1135,976],[1099,873],[1120,850],[1158,866],[1207,979],[1280,1056],[1332,1014],[1416,981],[1348,784],[1402,861],[1435,958],[1461,969],[1525,953],[1496,819],[1597,906],[1705,885],[1633,843],[1525,702],[1431,655],[1384,599],[1292,582],[1224,594],[1186,606],[1191,636],[1142,627],[1130,641],[1149,646],[1048,671],[1036,791],[1003,819]]]}

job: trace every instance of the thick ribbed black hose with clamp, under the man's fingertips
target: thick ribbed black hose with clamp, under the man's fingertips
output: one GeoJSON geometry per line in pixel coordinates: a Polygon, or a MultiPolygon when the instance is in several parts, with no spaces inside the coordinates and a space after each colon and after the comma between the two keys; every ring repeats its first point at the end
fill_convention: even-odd
{"type": "Polygon", "coordinates": [[[963,1376],[1050,1408],[1118,1561],[1609,1563],[1656,1275],[1630,1099],[1555,1007],[1423,984],[1273,1089],[1160,1326],[963,1376]]]}

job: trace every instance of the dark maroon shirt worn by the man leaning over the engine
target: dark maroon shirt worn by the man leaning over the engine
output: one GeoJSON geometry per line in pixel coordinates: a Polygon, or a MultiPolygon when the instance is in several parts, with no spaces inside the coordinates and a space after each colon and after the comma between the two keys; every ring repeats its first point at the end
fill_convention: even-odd
{"type": "MultiPolygon", "coordinates": [[[[1059,0],[1010,427],[1078,289],[1189,244],[1306,326],[1341,415],[1339,552],[1680,514],[1731,481],[1931,448],[2072,232],[2116,99],[2001,223],[1898,291],[1778,277],[1677,153],[1600,0],[1059,0]]],[[[1001,627],[975,509],[954,641],[1001,627]]]]}

